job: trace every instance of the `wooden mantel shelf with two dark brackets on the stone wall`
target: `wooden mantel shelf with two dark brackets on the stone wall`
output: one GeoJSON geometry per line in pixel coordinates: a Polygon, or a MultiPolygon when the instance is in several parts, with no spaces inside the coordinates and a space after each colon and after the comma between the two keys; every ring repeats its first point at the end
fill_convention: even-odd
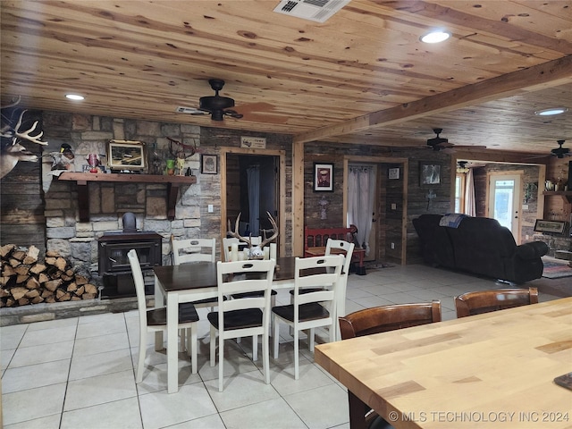
{"type": "Polygon", "coordinates": [[[58,181],[75,181],[78,184],[78,207],[80,221],[89,220],[88,181],[114,181],[121,183],[165,183],[167,185],[167,218],[175,218],[175,205],[181,185],[197,183],[196,176],[168,176],[156,174],[129,174],[121,172],[63,172],[57,176],[58,181]]]}

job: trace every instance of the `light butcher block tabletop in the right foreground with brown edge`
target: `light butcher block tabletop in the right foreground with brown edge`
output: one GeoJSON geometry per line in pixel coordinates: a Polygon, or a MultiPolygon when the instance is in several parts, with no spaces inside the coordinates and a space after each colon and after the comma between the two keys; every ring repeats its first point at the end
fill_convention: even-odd
{"type": "Polygon", "coordinates": [[[572,298],[315,348],[315,361],[396,428],[572,427],[572,298]]]}

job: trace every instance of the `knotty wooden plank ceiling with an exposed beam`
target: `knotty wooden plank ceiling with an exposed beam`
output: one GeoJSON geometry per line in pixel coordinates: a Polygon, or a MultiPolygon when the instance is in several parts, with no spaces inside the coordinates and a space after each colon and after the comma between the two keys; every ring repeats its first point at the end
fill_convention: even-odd
{"type": "Polygon", "coordinates": [[[3,103],[323,139],[519,154],[572,145],[570,1],[352,0],[324,23],[273,1],[8,1],[3,103]],[[452,37],[426,45],[433,28],[452,37]],[[242,119],[175,113],[226,84],[242,119]],[[63,95],[76,92],[82,102],[63,95]],[[534,111],[565,106],[550,118],[534,111]]]}

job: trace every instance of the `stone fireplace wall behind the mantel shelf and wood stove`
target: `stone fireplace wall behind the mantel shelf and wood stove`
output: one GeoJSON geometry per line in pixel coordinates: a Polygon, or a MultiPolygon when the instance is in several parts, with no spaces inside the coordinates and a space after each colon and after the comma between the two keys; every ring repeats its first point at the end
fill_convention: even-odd
{"type": "MultiPolygon", "coordinates": [[[[97,238],[107,231],[122,230],[122,215],[132,212],[140,231],[156,231],[163,236],[163,263],[171,264],[170,237],[220,237],[220,174],[201,174],[201,153],[218,155],[219,147],[240,147],[240,136],[255,135],[238,130],[209,129],[187,124],[117,119],[102,116],[44,112],[44,130],[49,147],[45,153],[58,151],[63,143],[71,145],[75,155],[75,171],[83,171],[88,154],[97,153],[105,163],[105,145],[109,139],[140,140],[146,143],[147,157],[156,153],[164,159],[177,150],[167,139],[180,141],[187,147],[197,147],[198,153],[188,156],[184,170],[191,169],[197,183],[181,186],[175,218],[167,219],[165,184],[88,182],[89,221],[78,216],[78,187],[74,181],[58,181],[51,172],[51,157],[43,163],[45,192],[46,248],[68,257],[79,273],[88,274],[92,282],[101,285],[97,275],[97,238]],[[218,131],[218,132],[216,132],[218,131]],[[209,213],[208,205],[214,206],[209,213]]],[[[256,134],[260,137],[261,134],[256,134]]],[[[288,147],[290,138],[263,134],[268,148],[288,147]]],[[[291,169],[291,152],[287,164],[291,169]]],[[[149,162],[152,165],[151,162],[149,162]]],[[[287,185],[288,186],[288,185],[287,185]]],[[[290,192],[290,189],[289,189],[290,192]]],[[[286,207],[291,214],[291,204],[286,207]]],[[[290,217],[290,216],[289,216],[290,217]]],[[[220,254],[220,250],[217,252],[220,254]]]]}

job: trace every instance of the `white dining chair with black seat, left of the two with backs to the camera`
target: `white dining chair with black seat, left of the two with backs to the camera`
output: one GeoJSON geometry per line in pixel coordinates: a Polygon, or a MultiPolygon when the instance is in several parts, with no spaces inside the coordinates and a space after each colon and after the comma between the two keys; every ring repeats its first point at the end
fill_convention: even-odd
{"type": "Polygon", "coordinates": [[[223,391],[224,341],[252,336],[252,359],[257,360],[257,336],[262,336],[262,365],[265,383],[270,383],[269,327],[270,294],[276,261],[217,262],[218,311],[207,315],[210,329],[210,365],[215,365],[218,332],[218,390],[223,391]],[[260,292],[248,298],[227,299],[227,295],[260,292]]]}

